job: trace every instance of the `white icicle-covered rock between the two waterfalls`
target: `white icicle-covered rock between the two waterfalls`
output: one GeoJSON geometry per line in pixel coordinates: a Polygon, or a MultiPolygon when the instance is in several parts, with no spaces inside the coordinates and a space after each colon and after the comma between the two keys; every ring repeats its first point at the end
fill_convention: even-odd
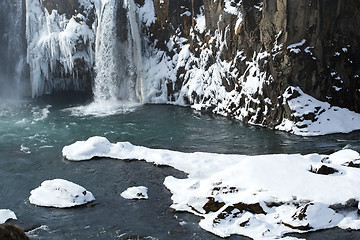
{"type": "MultiPolygon", "coordinates": [[[[84,14],[94,7],[85,0],[80,5],[86,8],[84,14]]],[[[84,90],[87,83],[80,72],[93,68],[95,35],[83,14],[68,19],[56,10],[49,13],[40,0],[26,0],[26,38],[32,97],[84,90]]]]}

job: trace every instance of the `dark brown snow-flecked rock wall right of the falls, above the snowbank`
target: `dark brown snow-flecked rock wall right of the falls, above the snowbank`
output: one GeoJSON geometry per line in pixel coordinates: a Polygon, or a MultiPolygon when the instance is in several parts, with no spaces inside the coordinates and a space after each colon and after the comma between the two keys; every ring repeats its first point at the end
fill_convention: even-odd
{"type": "Polygon", "coordinates": [[[152,29],[163,31],[149,28],[150,42],[173,57],[182,50],[176,40],[169,49],[177,35],[186,39],[191,55],[177,69],[176,81],[168,81],[169,100],[180,92],[186,103],[200,103],[203,110],[271,128],[284,119],[296,122],[282,96],[289,86],[360,111],[357,1],[165,0],[154,5],[152,29]],[[205,29],[199,28],[202,15],[205,29]],[[202,70],[202,76],[192,70],[202,70]]]}

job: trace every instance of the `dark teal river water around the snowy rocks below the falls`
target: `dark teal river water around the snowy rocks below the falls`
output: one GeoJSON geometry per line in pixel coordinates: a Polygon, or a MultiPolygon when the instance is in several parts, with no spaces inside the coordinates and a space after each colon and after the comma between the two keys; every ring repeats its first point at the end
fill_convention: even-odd
{"type": "MultiPolygon", "coordinates": [[[[199,228],[198,217],[170,208],[164,178],[185,174],[141,161],[63,159],[65,145],[94,135],[184,152],[254,155],[360,150],[359,132],[303,138],[169,105],[144,105],[106,117],[73,116],[64,110],[83,103],[59,96],[0,104],[0,209],[13,210],[24,226],[43,225],[31,233],[32,239],[219,239],[199,228]],[[54,209],[30,204],[30,191],[53,178],[84,186],[94,194],[95,205],[54,209]],[[148,200],[120,196],[128,187],[139,185],[149,188],[148,200]]],[[[359,239],[360,234],[326,230],[304,237],[359,239]]]]}

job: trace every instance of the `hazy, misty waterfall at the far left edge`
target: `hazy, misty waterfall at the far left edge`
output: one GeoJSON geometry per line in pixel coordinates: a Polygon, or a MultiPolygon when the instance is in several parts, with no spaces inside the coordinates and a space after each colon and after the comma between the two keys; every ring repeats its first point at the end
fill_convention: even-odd
{"type": "Polygon", "coordinates": [[[22,0],[0,2],[0,98],[18,99],[25,94],[25,18],[22,0]]]}

